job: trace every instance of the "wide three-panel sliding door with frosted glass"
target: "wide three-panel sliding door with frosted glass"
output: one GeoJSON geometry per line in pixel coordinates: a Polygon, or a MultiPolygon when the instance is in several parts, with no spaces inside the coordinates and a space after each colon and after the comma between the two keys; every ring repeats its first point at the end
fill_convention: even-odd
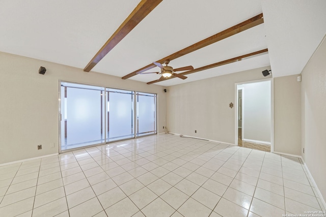
{"type": "Polygon", "coordinates": [[[60,151],[157,133],[156,94],[60,82],[60,95],[60,151]]]}

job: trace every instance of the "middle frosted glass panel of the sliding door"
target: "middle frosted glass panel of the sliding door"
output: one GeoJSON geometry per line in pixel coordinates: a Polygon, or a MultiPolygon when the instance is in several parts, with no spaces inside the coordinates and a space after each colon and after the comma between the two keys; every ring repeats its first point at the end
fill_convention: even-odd
{"type": "Polygon", "coordinates": [[[108,96],[108,141],[133,137],[133,92],[110,89],[108,96]]]}

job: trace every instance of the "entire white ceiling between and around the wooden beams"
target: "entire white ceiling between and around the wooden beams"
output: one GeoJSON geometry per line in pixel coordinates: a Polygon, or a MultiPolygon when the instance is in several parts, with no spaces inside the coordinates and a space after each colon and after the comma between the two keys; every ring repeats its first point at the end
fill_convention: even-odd
{"type": "MultiPolygon", "coordinates": [[[[84,69],[139,2],[0,0],[0,51],[84,69]]],[[[263,13],[263,24],[174,59],[169,66],[196,69],[265,48],[268,54],[156,84],[269,65],[274,77],[299,74],[326,33],[325,11],[324,0],[164,0],[92,71],[122,77],[263,13]]],[[[156,71],[158,67],[150,70],[156,71]]],[[[129,79],[149,82],[159,77],[129,79]]]]}

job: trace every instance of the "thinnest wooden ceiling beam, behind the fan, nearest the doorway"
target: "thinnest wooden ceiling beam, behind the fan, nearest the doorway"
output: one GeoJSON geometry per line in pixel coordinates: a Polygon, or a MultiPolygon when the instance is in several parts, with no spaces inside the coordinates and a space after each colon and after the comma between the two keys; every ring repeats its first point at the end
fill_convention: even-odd
{"type": "MultiPolygon", "coordinates": [[[[226,64],[231,64],[231,63],[234,63],[234,62],[237,62],[237,61],[240,61],[240,60],[252,58],[254,56],[263,55],[263,54],[266,54],[266,53],[268,53],[268,49],[263,49],[263,50],[259,50],[259,51],[253,52],[253,53],[248,53],[248,54],[244,54],[242,56],[237,56],[237,57],[234,57],[234,58],[231,58],[231,59],[220,61],[219,63],[214,63],[214,64],[203,66],[203,67],[200,67],[200,68],[197,68],[197,69],[193,69],[193,70],[189,70],[189,71],[186,71],[186,72],[182,72],[182,73],[179,73],[179,74],[180,75],[188,75],[188,74],[192,74],[192,73],[195,73],[195,72],[200,72],[200,71],[203,71],[203,70],[207,70],[207,69],[211,69],[211,68],[223,66],[223,65],[226,65],[226,64]]],[[[156,83],[156,82],[159,82],[159,81],[169,80],[171,78],[176,78],[176,76],[174,76],[172,74],[172,76],[169,77],[169,78],[166,78],[164,80],[159,80],[158,79],[158,80],[155,80],[155,81],[150,81],[147,84],[153,84],[153,83],[156,83]]]]}

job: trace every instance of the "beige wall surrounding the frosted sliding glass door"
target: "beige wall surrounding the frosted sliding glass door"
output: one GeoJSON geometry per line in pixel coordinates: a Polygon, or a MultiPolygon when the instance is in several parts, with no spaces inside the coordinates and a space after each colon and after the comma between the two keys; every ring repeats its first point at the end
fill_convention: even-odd
{"type": "Polygon", "coordinates": [[[0,52],[0,164],[58,153],[59,80],[156,93],[158,132],[165,131],[166,87],[0,52]]]}

